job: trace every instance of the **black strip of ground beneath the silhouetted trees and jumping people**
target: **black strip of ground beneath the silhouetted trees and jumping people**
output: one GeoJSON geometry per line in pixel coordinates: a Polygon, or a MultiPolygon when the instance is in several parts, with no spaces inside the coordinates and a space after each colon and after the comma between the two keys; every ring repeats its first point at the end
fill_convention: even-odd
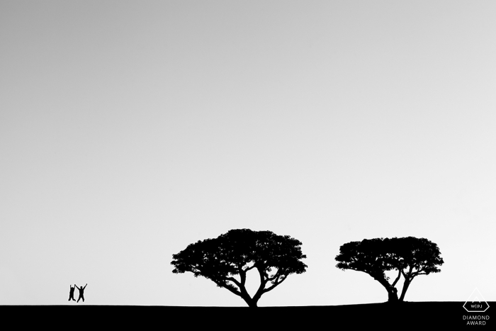
{"type": "Polygon", "coordinates": [[[133,305],[1,305],[0,315],[15,327],[140,327],[191,330],[332,330],[337,327],[384,327],[385,330],[435,330],[477,327],[495,330],[494,302],[484,313],[468,313],[465,302],[405,302],[304,307],[174,307],[133,305]],[[480,325],[467,325],[468,317],[480,325]],[[494,319],[494,320],[493,320],[494,319]],[[398,327],[400,327],[398,329],[398,327]],[[405,328],[406,327],[406,328],[405,328]]]}

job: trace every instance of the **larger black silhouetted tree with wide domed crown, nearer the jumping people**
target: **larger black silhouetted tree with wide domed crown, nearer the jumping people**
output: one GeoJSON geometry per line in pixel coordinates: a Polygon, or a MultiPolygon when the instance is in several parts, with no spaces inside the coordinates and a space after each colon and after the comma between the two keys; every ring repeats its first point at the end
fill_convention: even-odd
{"type": "Polygon", "coordinates": [[[272,291],[290,274],[305,272],[307,265],[300,259],[306,256],[302,254],[300,245],[300,241],[288,235],[276,235],[270,231],[230,230],[172,254],[174,260],[171,264],[175,267],[172,272],[183,274],[190,271],[195,277],[210,279],[254,308],[262,294],[272,291]],[[260,286],[253,297],[245,288],[247,271],[251,269],[257,269],[260,276],[260,286]]]}

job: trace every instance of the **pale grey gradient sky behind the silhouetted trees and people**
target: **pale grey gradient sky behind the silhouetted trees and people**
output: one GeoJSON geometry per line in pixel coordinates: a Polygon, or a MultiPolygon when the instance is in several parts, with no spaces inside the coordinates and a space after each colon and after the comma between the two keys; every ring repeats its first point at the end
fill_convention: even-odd
{"type": "Polygon", "coordinates": [[[307,255],[259,306],[387,301],[334,258],[407,236],[444,264],[406,301],[496,301],[495,17],[495,1],[1,0],[0,305],[246,306],[171,272],[237,228],[307,255]]]}

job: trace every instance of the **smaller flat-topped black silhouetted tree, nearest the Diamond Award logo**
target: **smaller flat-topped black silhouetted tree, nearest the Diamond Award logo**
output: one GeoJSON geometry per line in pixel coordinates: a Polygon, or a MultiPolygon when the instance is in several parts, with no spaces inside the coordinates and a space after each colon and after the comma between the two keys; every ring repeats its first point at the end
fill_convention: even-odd
{"type": "Polygon", "coordinates": [[[363,271],[376,279],[386,291],[388,301],[397,302],[405,299],[405,293],[412,280],[418,275],[436,273],[436,267],[444,263],[439,257],[439,248],[425,238],[376,238],[361,242],[347,242],[339,249],[336,267],[342,270],[363,271]],[[398,271],[393,283],[385,271],[398,271]],[[403,275],[402,293],[398,298],[396,284],[403,275]]]}

